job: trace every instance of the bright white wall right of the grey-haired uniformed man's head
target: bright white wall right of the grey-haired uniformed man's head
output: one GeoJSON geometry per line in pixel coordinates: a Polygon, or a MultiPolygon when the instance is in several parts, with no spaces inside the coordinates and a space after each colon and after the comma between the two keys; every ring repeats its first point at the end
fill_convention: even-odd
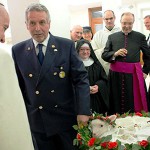
{"type": "Polygon", "coordinates": [[[66,1],[61,0],[40,0],[50,12],[51,28],[54,35],[70,38],[70,17],[66,1]]]}

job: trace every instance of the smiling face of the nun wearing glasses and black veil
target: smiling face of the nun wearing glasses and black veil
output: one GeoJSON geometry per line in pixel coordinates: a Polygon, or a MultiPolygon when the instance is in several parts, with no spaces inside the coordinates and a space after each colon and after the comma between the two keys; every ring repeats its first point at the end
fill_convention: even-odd
{"type": "Polygon", "coordinates": [[[80,47],[79,49],[79,56],[81,57],[81,59],[87,59],[90,57],[90,54],[91,54],[91,50],[89,47],[86,47],[86,46],[82,46],[80,47]]]}

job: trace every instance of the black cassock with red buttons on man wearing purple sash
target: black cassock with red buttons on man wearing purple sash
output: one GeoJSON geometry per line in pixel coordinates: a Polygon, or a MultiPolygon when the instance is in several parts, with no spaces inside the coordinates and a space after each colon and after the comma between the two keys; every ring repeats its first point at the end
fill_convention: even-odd
{"type": "MultiPolygon", "coordinates": [[[[123,32],[111,34],[108,37],[102,58],[109,63],[117,61],[137,63],[140,62],[140,50],[143,52],[144,61],[142,69],[144,73],[148,74],[150,71],[150,51],[147,47],[146,37],[139,32],[131,31],[128,35],[123,32]],[[118,56],[113,59],[114,53],[121,48],[127,49],[126,57],[118,56]]],[[[110,70],[108,78],[111,113],[134,112],[133,75],[110,70]]]]}

